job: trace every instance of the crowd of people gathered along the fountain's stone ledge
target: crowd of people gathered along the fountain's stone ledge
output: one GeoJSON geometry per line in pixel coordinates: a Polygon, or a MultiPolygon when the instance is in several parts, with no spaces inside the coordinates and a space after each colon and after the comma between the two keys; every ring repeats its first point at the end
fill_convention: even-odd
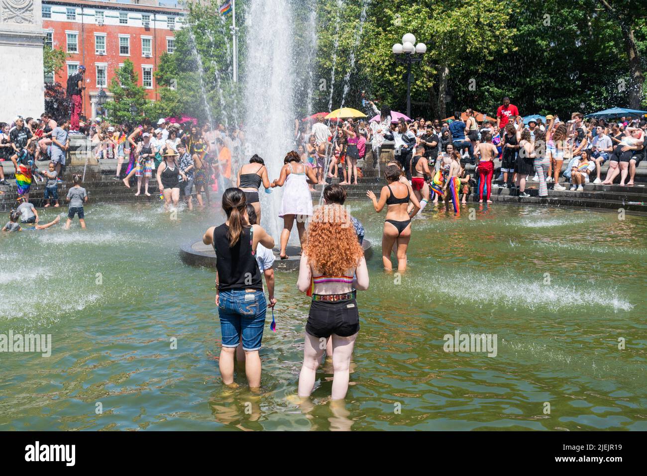
{"type": "MultiPolygon", "coordinates": [[[[647,153],[644,120],[585,120],[584,114],[573,113],[565,121],[547,115],[545,122],[538,118],[524,124],[507,97],[496,110],[496,120],[481,115],[480,122],[472,109],[455,111],[446,120],[395,120],[391,115],[400,114],[388,107],[379,109],[364,93],[362,107],[368,114],[378,114],[378,119],[331,121],[319,114],[314,119],[295,120],[294,150],[312,173],[307,180],[311,191],[326,179],[338,178],[344,186],[357,184],[362,168],[371,166],[369,149],[372,168],[380,167],[378,157],[385,141],[392,141],[395,160],[391,165],[400,168],[404,181],[421,200],[421,208],[443,199],[446,206],[452,202],[455,211],[461,195],[463,203],[471,193],[479,202],[491,202],[492,188],[499,187],[492,183],[496,158],[501,160],[497,180],[501,187],[523,198],[530,196],[526,191],[529,181],[538,182],[539,197],[546,197],[551,188],[582,191],[589,182],[613,184],[617,178],[620,185],[633,186],[636,166],[647,153]],[[603,178],[605,162],[609,168],[603,178]],[[474,166],[470,168],[473,174],[466,164],[474,166]]],[[[167,207],[177,206],[183,196],[191,210],[194,190],[200,206],[203,193],[209,201],[210,190],[219,187],[240,186],[254,193],[260,186],[251,177],[254,173],[266,188],[276,186],[276,180],[270,183],[267,169],[259,167],[262,159],[251,173],[254,168],[246,163],[244,151],[253,147],[245,147],[242,127],[199,125],[191,118],[184,122],[144,119],[141,124],[72,119],[78,124],[76,130],[71,130],[71,121],[57,123],[47,113],[0,123],[0,161],[14,163],[20,172],[16,180],[19,195],[27,201],[32,181],[42,181],[46,182],[45,206],[59,206],[56,184],[61,182],[72,135],[87,136],[91,154],[98,160],[116,161],[114,180],[134,188],[134,176],[134,195],[151,195],[149,182],[157,180],[167,207]],[[43,171],[38,162],[46,162],[43,171]]],[[[8,185],[2,168],[0,185],[8,185]]]]}

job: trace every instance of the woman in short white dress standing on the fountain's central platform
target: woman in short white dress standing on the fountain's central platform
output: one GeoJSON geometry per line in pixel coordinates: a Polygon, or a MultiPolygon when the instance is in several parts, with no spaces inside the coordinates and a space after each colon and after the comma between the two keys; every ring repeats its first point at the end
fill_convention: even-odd
{"type": "Polygon", "coordinates": [[[283,231],[281,232],[281,259],[287,259],[285,253],[287,242],[290,239],[290,232],[296,218],[296,229],[299,232],[299,241],[303,246],[303,233],[305,233],[305,221],[313,215],[313,199],[308,189],[307,179],[317,183],[316,174],[313,168],[306,166],[301,161],[298,153],[290,151],[283,159],[283,168],[278,179],[272,182],[272,188],[282,187],[283,199],[279,216],[283,218],[283,231]]]}

